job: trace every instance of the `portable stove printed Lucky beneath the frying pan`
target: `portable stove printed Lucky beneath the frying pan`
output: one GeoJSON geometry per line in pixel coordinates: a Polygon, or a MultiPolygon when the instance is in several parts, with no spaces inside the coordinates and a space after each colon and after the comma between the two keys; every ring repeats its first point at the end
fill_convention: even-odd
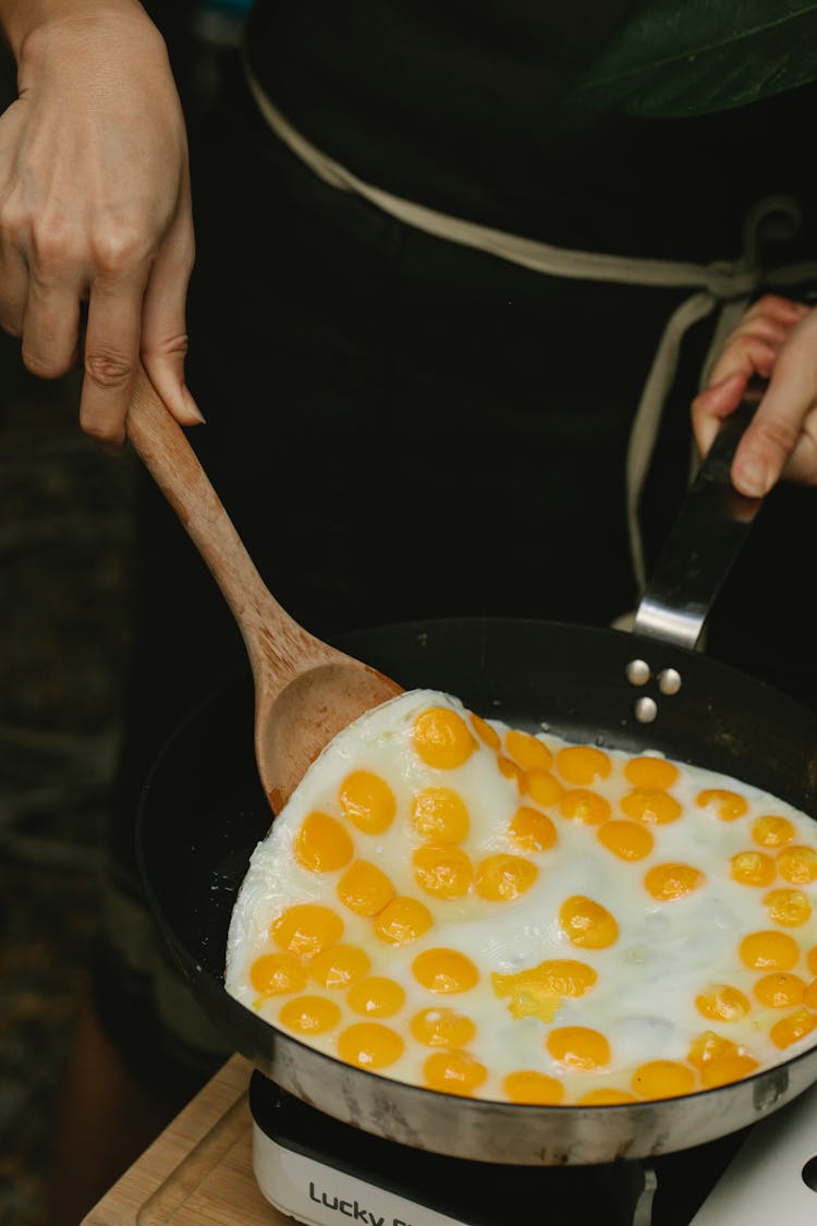
{"type": "Polygon", "coordinates": [[[491,1165],[339,1123],[255,1072],[254,1171],[307,1226],[813,1226],[817,1086],[752,1128],[647,1161],[491,1165]]]}

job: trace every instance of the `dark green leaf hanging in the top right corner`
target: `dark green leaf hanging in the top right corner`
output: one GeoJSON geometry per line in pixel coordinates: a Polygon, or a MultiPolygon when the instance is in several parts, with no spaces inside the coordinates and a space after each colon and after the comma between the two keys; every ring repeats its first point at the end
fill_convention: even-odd
{"type": "Polygon", "coordinates": [[[817,78],[817,0],[647,0],[567,101],[687,116],[817,78]]]}

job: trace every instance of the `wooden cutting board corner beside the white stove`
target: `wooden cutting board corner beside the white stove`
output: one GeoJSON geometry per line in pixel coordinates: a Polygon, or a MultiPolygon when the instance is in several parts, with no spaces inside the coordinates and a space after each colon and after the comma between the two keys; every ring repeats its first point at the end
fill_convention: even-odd
{"type": "Polygon", "coordinates": [[[292,1226],[252,1173],[251,1073],[233,1056],[82,1226],[292,1226]]]}

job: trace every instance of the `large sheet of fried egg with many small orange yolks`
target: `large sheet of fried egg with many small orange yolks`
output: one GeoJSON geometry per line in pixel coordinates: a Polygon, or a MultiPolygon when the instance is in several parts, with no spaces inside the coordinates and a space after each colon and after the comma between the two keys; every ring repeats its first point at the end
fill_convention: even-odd
{"type": "Polygon", "coordinates": [[[412,690],[255,848],[225,986],[341,1060],[450,1094],[668,1098],[817,1041],[817,824],[730,777],[412,690]]]}

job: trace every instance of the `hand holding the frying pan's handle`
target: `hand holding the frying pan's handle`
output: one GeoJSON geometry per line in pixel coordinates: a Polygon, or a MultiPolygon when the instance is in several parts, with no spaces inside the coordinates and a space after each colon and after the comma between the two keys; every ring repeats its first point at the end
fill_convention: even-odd
{"type": "Polygon", "coordinates": [[[769,380],[732,461],[741,493],[767,494],[784,477],[817,484],[817,310],[768,294],[746,313],[692,402],[701,455],[737,407],[753,375],[769,380]]]}

